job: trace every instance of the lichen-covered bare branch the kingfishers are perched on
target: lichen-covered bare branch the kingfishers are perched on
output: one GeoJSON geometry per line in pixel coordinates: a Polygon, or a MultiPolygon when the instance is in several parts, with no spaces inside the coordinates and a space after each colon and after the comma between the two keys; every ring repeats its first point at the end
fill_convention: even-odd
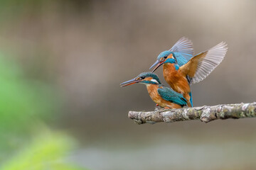
{"type": "Polygon", "coordinates": [[[201,120],[208,123],[217,119],[256,117],[256,102],[221,104],[195,108],[159,109],[155,111],[129,111],[128,117],[138,124],[172,123],[183,120],[201,120]]]}

